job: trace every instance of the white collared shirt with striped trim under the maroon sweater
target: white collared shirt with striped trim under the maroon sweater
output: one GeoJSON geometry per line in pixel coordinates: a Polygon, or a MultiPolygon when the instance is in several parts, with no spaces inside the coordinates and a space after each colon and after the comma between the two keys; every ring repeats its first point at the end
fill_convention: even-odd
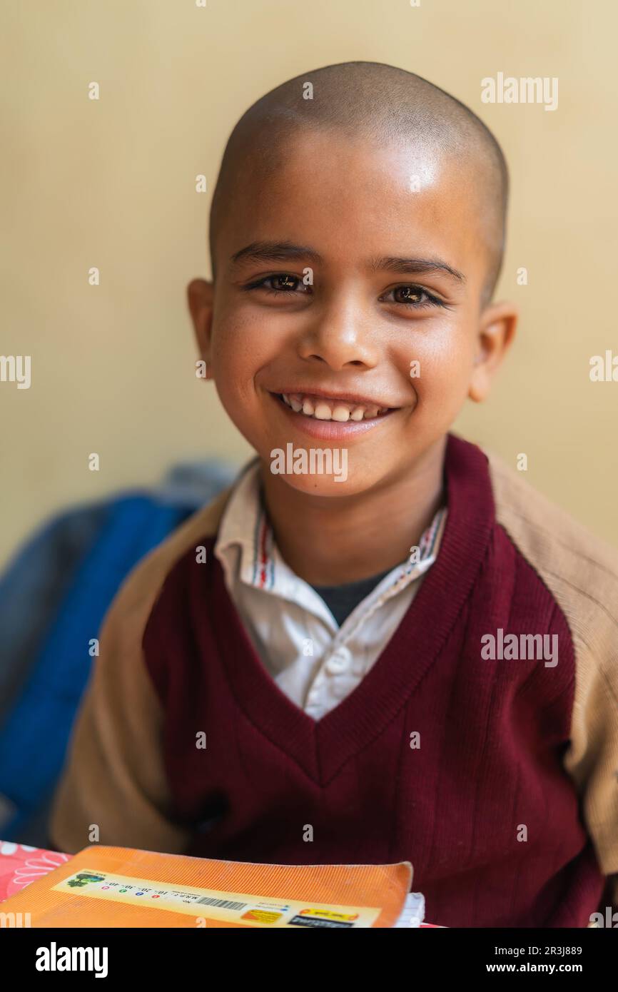
{"type": "Polygon", "coordinates": [[[437,556],[446,508],[424,533],[419,560],[391,569],[339,627],[321,596],[281,557],[260,485],[256,461],[229,497],[214,554],[262,664],[318,720],[356,688],[395,633],[437,556]]]}

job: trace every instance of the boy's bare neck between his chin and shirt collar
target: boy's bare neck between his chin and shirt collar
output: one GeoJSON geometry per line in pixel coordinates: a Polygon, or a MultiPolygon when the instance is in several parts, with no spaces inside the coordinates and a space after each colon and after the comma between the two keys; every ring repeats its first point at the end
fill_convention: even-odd
{"type": "Polygon", "coordinates": [[[310,585],[368,578],[410,557],[444,502],[446,437],[410,472],[359,496],[299,492],[262,462],[266,509],[279,552],[310,585]]]}

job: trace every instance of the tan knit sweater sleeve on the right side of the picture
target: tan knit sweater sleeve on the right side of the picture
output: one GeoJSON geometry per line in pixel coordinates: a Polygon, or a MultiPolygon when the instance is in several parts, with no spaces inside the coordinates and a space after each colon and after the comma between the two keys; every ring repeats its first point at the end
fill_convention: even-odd
{"type": "MultiPolygon", "coordinates": [[[[536,569],[572,639],[574,695],[564,768],[606,875],[618,875],[618,554],[485,450],[496,521],[536,569]]],[[[553,670],[548,670],[552,672],[553,670]]],[[[618,887],[618,882],[616,882],[618,887]]],[[[618,898],[618,888],[616,895],[618,898]]]]}

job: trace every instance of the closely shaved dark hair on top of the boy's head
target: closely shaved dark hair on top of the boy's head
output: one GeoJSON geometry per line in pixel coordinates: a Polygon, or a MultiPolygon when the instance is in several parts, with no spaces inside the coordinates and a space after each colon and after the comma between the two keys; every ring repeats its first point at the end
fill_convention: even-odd
{"type": "Polygon", "coordinates": [[[422,76],[379,62],[342,62],[304,72],[272,89],[240,118],[225,147],[212,197],[209,246],[216,278],[216,239],[238,184],[273,176],[300,132],[336,131],[374,147],[410,149],[414,172],[453,164],[473,198],[484,243],[491,299],[504,251],[508,170],[491,131],[468,107],[422,76]]]}

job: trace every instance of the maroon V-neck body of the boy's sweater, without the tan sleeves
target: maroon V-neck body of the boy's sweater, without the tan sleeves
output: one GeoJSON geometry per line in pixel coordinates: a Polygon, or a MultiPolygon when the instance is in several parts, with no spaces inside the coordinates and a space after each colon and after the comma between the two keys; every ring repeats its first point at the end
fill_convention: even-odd
{"type": "Polygon", "coordinates": [[[496,523],[482,451],[449,435],[444,481],[436,561],[373,668],[317,722],[261,664],[212,539],[206,563],[177,562],[144,634],[172,813],[204,857],[409,860],[444,926],[585,927],[604,879],[562,767],[571,636],[496,523]],[[556,667],[483,660],[498,628],[557,634],[556,667]]]}

